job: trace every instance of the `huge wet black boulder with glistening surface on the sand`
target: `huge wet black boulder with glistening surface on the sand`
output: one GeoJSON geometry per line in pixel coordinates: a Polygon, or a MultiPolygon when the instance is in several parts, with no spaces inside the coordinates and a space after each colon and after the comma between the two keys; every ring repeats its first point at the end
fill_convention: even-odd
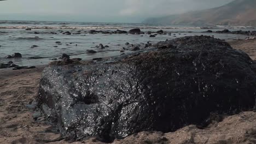
{"type": "Polygon", "coordinates": [[[219,39],[184,37],[98,63],[51,65],[38,106],[74,140],[203,125],[255,104],[255,64],[219,39]]]}

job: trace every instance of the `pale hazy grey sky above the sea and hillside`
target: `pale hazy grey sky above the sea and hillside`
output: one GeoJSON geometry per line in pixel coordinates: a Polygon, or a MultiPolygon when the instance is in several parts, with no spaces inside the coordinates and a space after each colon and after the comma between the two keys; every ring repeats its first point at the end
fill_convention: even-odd
{"type": "Polygon", "coordinates": [[[1,20],[141,22],[147,17],[218,7],[233,0],[7,0],[1,20]]]}

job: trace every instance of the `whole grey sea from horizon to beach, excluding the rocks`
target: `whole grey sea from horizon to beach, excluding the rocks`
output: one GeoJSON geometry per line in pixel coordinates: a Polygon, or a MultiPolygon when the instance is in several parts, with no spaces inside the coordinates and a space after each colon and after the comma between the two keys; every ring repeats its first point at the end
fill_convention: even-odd
{"type": "MultiPolygon", "coordinates": [[[[174,39],[189,35],[213,35],[215,38],[231,40],[245,39],[246,35],[202,33],[211,29],[212,31],[255,31],[253,27],[184,27],[184,26],[155,26],[139,23],[92,23],[92,22],[50,22],[50,21],[0,21],[0,63],[13,61],[20,66],[32,66],[47,64],[50,58],[59,58],[62,53],[71,55],[72,58],[80,57],[89,60],[95,57],[109,57],[120,55],[120,48],[126,42],[130,44],[143,44],[147,41],[157,43],[166,39],[174,39]],[[31,28],[31,31],[26,31],[31,28]],[[132,28],[140,28],[143,32],[156,32],[162,29],[167,34],[159,34],[150,38],[148,34],[89,34],[90,30],[116,31],[117,29],[129,31],[132,28]],[[62,34],[71,32],[71,35],[62,34]],[[80,31],[80,34],[75,34],[80,31]],[[35,34],[37,32],[38,34],[35,34]],[[56,34],[55,34],[56,33],[56,34]],[[171,33],[171,35],[168,35],[171,33]],[[61,45],[56,44],[61,41],[61,45]],[[106,49],[100,50],[96,45],[108,45],[106,49]],[[32,45],[38,47],[31,48],[32,45]],[[56,47],[57,46],[57,47],[56,47]],[[95,50],[97,53],[88,54],[86,50],[95,50]],[[14,52],[22,54],[22,58],[6,59],[7,55],[14,52]],[[44,57],[41,59],[30,59],[30,57],[44,57]]],[[[129,50],[125,53],[130,52],[129,50]]]]}

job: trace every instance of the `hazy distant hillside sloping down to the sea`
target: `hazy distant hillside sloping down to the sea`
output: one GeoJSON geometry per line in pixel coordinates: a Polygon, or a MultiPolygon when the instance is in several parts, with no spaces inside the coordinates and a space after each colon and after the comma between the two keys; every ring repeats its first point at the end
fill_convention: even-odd
{"type": "Polygon", "coordinates": [[[256,26],[256,0],[235,0],[222,7],[149,18],[143,23],[163,25],[256,26]]]}

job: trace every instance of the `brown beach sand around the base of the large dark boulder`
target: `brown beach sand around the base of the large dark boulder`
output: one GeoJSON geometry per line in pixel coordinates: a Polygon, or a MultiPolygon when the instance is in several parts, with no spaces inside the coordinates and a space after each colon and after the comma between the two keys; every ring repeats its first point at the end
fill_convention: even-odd
{"type": "MultiPolygon", "coordinates": [[[[235,49],[243,50],[255,60],[256,40],[229,42],[235,49]]],[[[33,119],[30,107],[37,95],[40,75],[44,66],[25,70],[0,70],[0,143],[68,143],[55,133],[41,118],[33,119]]],[[[35,115],[35,114],[34,114],[35,115]]],[[[90,139],[74,143],[101,143],[90,139]]],[[[175,133],[142,132],[115,140],[114,143],[256,143],[256,113],[243,112],[225,118],[206,129],[190,125],[175,133]]]]}

